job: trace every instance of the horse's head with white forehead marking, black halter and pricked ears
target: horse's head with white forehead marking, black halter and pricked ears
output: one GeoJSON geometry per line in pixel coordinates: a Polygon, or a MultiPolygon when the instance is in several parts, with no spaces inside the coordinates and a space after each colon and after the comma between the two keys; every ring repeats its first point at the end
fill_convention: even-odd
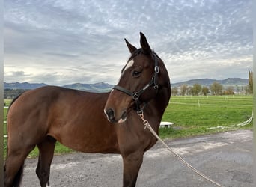
{"type": "Polygon", "coordinates": [[[144,105],[155,98],[159,90],[170,87],[165,65],[150,49],[144,34],[140,34],[140,49],[125,40],[132,55],[121,71],[118,85],[115,85],[109,94],[104,109],[112,123],[124,122],[132,109],[141,112],[144,105]]]}

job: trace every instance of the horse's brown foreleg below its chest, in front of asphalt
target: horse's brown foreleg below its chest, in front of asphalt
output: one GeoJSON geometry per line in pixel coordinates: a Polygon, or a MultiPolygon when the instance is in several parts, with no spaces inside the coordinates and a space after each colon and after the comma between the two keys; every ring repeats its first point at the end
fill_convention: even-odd
{"type": "Polygon", "coordinates": [[[136,185],[138,171],[143,162],[143,153],[131,153],[123,156],[124,173],[123,173],[123,186],[132,187],[136,185]]]}

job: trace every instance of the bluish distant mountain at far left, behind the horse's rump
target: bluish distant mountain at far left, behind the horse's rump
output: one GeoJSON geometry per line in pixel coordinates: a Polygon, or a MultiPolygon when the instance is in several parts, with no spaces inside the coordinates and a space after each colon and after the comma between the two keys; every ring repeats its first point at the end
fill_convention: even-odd
{"type": "Polygon", "coordinates": [[[12,89],[12,90],[16,90],[16,89],[24,89],[24,90],[31,90],[34,88],[40,88],[42,86],[46,86],[46,84],[44,83],[28,83],[28,82],[11,82],[11,83],[7,83],[4,82],[4,89],[12,89]]]}

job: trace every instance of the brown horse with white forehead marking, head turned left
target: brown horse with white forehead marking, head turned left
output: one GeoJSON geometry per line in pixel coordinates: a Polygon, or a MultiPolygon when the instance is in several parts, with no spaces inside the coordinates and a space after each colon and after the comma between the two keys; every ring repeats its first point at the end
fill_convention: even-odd
{"type": "Polygon", "coordinates": [[[165,65],[144,34],[141,49],[126,43],[132,55],[111,93],[46,86],[13,100],[7,114],[4,186],[19,186],[24,161],[35,146],[37,177],[41,186],[49,184],[56,141],[85,153],[121,153],[123,185],[135,186],[144,152],[156,143],[138,114],[143,113],[158,132],[171,85],[165,65]]]}

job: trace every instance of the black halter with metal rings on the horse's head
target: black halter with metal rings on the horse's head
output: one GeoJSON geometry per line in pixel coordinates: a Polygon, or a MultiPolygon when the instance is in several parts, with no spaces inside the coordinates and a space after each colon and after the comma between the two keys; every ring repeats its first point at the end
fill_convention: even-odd
{"type": "Polygon", "coordinates": [[[127,95],[132,96],[132,99],[135,101],[135,105],[136,105],[135,111],[137,111],[138,114],[143,113],[143,109],[147,105],[147,102],[148,102],[148,101],[146,101],[146,102],[140,102],[139,101],[139,97],[141,96],[141,94],[144,93],[144,91],[146,91],[147,88],[150,88],[151,85],[153,85],[153,88],[155,89],[156,94],[157,94],[157,91],[158,91],[158,88],[159,88],[159,85],[157,85],[159,66],[158,66],[157,55],[156,55],[155,52],[153,52],[153,58],[154,58],[154,61],[155,61],[153,77],[150,80],[150,82],[147,83],[147,85],[145,85],[143,88],[141,88],[140,91],[132,92],[132,91],[129,91],[126,88],[123,88],[123,87],[118,86],[118,85],[115,85],[113,87],[113,89],[115,89],[115,90],[124,92],[127,95]],[[141,103],[144,104],[142,107],[141,107],[141,103]]]}

